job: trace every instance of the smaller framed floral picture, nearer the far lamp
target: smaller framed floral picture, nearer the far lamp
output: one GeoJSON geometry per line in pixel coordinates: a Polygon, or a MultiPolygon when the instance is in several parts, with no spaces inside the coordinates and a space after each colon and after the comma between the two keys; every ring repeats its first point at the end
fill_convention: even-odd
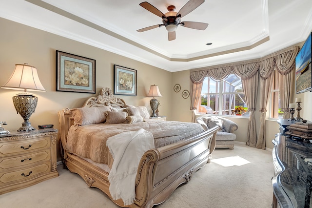
{"type": "Polygon", "coordinates": [[[137,96],[137,70],[114,65],[114,94],[137,96]]]}

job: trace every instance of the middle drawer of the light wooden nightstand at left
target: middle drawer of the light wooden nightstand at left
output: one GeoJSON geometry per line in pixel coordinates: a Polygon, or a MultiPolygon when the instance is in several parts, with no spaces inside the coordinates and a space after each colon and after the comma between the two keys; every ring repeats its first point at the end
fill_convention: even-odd
{"type": "Polygon", "coordinates": [[[0,172],[12,167],[26,166],[39,161],[50,160],[50,149],[28,153],[18,157],[0,158],[0,172]]]}

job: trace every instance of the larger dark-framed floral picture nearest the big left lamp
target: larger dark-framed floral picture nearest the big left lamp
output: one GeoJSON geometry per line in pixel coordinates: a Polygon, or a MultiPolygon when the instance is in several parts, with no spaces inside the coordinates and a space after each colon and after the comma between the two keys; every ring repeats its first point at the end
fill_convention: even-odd
{"type": "Polygon", "coordinates": [[[56,51],[56,91],[96,93],[96,60],[56,51]]]}

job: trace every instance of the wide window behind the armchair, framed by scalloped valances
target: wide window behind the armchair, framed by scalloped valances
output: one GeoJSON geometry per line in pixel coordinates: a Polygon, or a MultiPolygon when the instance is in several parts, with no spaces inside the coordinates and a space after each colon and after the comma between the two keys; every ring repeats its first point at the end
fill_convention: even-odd
{"type": "Polygon", "coordinates": [[[201,89],[201,107],[208,106],[212,114],[249,116],[241,80],[230,74],[225,81],[206,77],[201,89]]]}

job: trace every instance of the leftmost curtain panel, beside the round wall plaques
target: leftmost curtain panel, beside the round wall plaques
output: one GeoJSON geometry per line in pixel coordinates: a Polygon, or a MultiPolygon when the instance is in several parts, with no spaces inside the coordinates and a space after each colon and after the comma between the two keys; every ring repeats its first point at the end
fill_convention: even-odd
{"type": "Polygon", "coordinates": [[[192,71],[190,74],[190,79],[192,81],[191,85],[191,108],[193,110],[192,122],[195,122],[194,110],[197,109],[199,103],[201,102],[201,88],[203,86],[203,81],[207,76],[207,70],[192,71]]]}

